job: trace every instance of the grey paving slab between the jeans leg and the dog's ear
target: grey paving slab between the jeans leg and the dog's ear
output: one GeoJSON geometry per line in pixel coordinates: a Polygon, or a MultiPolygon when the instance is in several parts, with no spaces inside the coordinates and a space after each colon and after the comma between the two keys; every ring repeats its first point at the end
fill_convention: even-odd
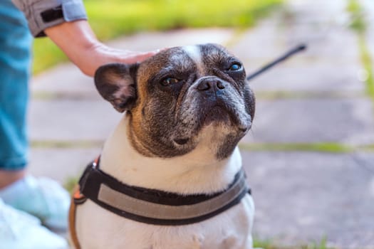
{"type": "Polygon", "coordinates": [[[32,140],[103,140],[122,114],[109,102],[93,100],[33,100],[28,122],[32,140]]]}

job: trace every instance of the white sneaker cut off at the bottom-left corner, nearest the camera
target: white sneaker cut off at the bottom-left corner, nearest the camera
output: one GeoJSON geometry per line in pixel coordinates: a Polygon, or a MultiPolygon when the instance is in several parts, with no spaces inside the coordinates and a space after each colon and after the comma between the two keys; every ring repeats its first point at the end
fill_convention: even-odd
{"type": "Polygon", "coordinates": [[[7,206],[0,198],[1,249],[65,249],[66,240],[41,226],[38,218],[7,206]]]}

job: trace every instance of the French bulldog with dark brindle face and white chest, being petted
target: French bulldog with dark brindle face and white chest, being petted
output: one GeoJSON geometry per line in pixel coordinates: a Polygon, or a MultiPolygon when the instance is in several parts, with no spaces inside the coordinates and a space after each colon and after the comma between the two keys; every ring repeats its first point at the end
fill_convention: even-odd
{"type": "MultiPolygon", "coordinates": [[[[172,217],[169,211],[183,216],[185,210],[178,208],[187,207],[188,213],[188,205],[157,203],[163,194],[172,196],[171,202],[189,198],[195,204],[195,196],[212,201],[232,187],[242,166],[237,144],[251,128],[255,111],[241,61],[217,44],[175,47],[142,63],[103,65],[95,85],[115,110],[125,112],[104,144],[100,174],[130,191],[155,191],[157,198],[140,200],[135,215],[120,208],[136,204],[136,194],[118,201],[122,194],[113,189],[108,203],[121,202],[115,208],[90,198],[75,205],[76,247],[252,248],[254,202],[248,193],[235,197],[237,202],[224,211],[204,213],[205,218],[187,215],[177,223],[162,217],[172,217]],[[150,222],[136,218],[140,210],[154,215],[150,222]]],[[[99,195],[106,189],[100,186],[99,195]]],[[[208,206],[215,210],[215,205],[208,206]]]]}

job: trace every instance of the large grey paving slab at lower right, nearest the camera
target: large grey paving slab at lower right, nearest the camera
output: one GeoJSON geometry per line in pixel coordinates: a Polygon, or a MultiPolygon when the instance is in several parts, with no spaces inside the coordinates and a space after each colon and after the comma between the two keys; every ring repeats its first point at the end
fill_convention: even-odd
{"type": "Polygon", "coordinates": [[[374,248],[374,154],[242,152],[254,232],[276,244],[374,248]],[[359,163],[358,163],[359,161],[359,163]]]}

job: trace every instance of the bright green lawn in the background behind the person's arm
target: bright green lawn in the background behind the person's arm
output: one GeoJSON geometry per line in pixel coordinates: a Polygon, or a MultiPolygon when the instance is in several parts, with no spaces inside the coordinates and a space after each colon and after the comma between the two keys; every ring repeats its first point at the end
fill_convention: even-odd
{"type": "MultiPolygon", "coordinates": [[[[86,0],[84,3],[93,31],[101,41],[108,41],[139,31],[212,26],[247,28],[282,1],[86,0]]],[[[67,60],[48,38],[36,39],[33,53],[33,73],[67,60]]]]}

